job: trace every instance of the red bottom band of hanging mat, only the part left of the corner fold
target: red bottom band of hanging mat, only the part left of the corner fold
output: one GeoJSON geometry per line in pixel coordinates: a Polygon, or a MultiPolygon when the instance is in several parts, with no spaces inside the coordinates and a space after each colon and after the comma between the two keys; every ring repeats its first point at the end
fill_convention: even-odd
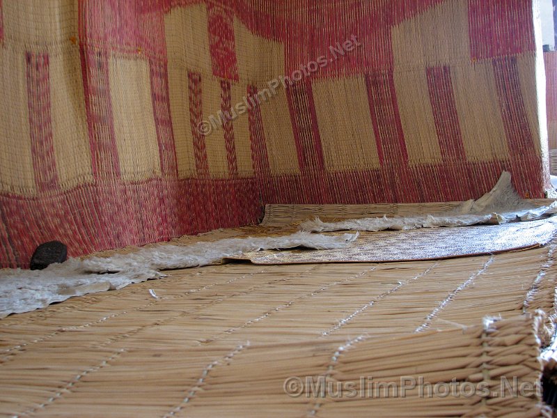
{"type": "MultiPolygon", "coordinates": [[[[245,210],[238,222],[256,223],[260,205],[253,180],[234,182],[242,190],[241,207],[245,210]]],[[[4,249],[0,248],[0,268],[29,267],[33,251],[48,240],[65,242],[70,256],[81,256],[208,231],[213,227],[200,222],[201,218],[194,213],[196,207],[203,210],[207,204],[199,193],[207,187],[221,192],[227,184],[228,180],[156,179],[134,184],[86,185],[57,196],[0,195],[0,243],[8,242],[4,249]],[[118,199],[109,201],[109,196],[115,194],[118,199]],[[203,199],[196,200],[200,196],[203,199]],[[159,221],[157,206],[166,204],[175,208],[175,219],[159,221]],[[116,222],[108,222],[101,205],[123,212],[115,218],[116,222]]],[[[223,216],[231,208],[230,198],[215,196],[215,199],[220,206],[218,215],[223,216]]],[[[229,219],[220,226],[238,226],[231,222],[229,219]]]]}

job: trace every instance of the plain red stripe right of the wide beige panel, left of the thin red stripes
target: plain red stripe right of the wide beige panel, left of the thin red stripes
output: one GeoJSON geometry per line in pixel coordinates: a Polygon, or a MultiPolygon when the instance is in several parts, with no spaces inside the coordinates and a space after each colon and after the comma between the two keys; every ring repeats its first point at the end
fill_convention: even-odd
{"type": "Polygon", "coordinates": [[[158,60],[149,61],[151,80],[151,99],[157,141],[159,142],[159,155],[163,176],[178,176],[178,161],[176,160],[176,146],[172,130],[170,114],[170,98],[168,96],[168,70],[166,63],[158,60]]]}

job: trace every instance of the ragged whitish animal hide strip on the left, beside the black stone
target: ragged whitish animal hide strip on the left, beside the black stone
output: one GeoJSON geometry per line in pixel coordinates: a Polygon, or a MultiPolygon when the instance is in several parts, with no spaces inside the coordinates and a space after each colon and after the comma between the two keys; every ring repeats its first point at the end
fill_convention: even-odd
{"type": "Polygon", "coordinates": [[[260,249],[336,249],[350,244],[357,236],[298,232],[278,237],[197,242],[187,246],[162,244],[109,258],[70,258],[65,263],[49,265],[45,270],[1,270],[0,318],[33,311],[72,296],[119,289],[156,279],[163,276],[160,270],[209,265],[244,251],[260,249]]]}

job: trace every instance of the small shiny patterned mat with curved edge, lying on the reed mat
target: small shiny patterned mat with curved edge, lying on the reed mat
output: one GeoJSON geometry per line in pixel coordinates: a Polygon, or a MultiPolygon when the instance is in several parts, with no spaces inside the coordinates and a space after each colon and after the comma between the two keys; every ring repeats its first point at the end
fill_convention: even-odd
{"type": "Polygon", "coordinates": [[[435,260],[540,247],[549,242],[556,232],[557,221],[546,220],[450,229],[361,232],[356,242],[340,249],[267,249],[231,258],[256,264],[435,260]]]}

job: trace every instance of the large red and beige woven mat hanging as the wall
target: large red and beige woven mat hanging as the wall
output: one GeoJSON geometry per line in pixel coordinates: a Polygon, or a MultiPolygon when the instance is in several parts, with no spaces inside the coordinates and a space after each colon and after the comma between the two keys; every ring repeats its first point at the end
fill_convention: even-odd
{"type": "Polygon", "coordinates": [[[542,197],[536,50],[529,0],[0,1],[0,266],[52,239],[76,256],[253,224],[265,203],[477,198],[503,169],[542,197]]]}

